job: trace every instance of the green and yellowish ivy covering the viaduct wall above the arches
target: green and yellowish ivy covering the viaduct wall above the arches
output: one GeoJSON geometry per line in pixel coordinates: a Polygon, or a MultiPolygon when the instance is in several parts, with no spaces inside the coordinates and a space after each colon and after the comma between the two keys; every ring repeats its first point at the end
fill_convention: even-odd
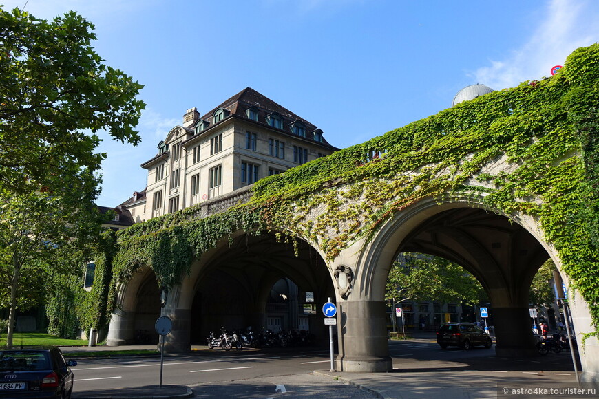
{"type": "Polygon", "coordinates": [[[224,213],[199,219],[196,206],[136,224],[116,237],[112,280],[102,288],[109,308],[116,284],[138,268],[152,268],[160,285],[176,284],[193,259],[236,230],[304,237],[330,260],[424,198],[466,197],[505,215],[536,217],[597,327],[597,104],[599,44],[576,50],[551,78],[494,91],[265,177],[251,202],[224,213]],[[491,167],[501,162],[509,169],[491,167]]]}

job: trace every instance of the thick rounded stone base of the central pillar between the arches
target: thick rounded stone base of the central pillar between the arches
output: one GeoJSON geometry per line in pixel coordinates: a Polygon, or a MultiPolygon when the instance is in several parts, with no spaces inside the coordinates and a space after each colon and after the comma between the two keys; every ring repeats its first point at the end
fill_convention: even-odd
{"type": "MultiPolygon", "coordinates": [[[[337,302],[337,371],[391,371],[383,301],[337,302]]],[[[322,319],[321,319],[322,323],[322,319]]]]}

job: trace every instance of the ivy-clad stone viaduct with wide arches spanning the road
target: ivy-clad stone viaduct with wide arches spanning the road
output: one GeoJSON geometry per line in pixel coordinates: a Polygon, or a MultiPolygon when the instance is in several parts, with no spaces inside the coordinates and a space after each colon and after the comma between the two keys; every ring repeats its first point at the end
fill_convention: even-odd
{"type": "MultiPolygon", "coordinates": [[[[551,258],[571,292],[581,345],[582,334],[596,331],[595,298],[585,287],[599,282],[588,281],[599,220],[596,191],[587,190],[596,184],[587,155],[597,148],[598,96],[590,83],[597,77],[576,65],[596,65],[598,52],[581,50],[552,78],[441,111],[179,217],[181,225],[218,224],[227,214],[260,223],[251,231],[232,222],[211,249],[193,252],[162,309],[151,261],[141,264],[120,285],[109,345],[132,338],[136,320],[153,325],[159,314],[174,320],[171,351],[189,350],[204,320],[264,325],[266,296],[288,277],[314,292],[317,309],[328,296],[337,303],[338,370],[390,371],[383,297],[401,252],[438,255],[474,274],[490,296],[496,354],[504,357],[534,355],[529,288],[551,258]],[[581,248],[591,248],[584,259],[581,248]]],[[[313,318],[322,325],[322,316],[313,318]]],[[[579,353],[584,378],[597,380],[596,336],[579,353]]]]}

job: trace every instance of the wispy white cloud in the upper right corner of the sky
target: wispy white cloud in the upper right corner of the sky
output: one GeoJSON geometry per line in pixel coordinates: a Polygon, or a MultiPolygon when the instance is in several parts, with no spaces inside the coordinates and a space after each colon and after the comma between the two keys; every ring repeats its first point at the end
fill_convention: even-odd
{"type": "Polygon", "coordinates": [[[599,11],[592,0],[551,0],[547,10],[534,17],[530,21],[541,19],[534,34],[505,59],[476,69],[476,83],[504,89],[549,76],[551,67],[563,65],[576,48],[599,40],[599,11]]]}

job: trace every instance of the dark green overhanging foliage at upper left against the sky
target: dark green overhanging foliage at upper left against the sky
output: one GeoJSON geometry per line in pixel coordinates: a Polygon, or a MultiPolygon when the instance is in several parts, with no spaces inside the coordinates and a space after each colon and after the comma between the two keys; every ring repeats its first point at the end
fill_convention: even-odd
{"type": "MultiPolygon", "coordinates": [[[[99,131],[138,144],[142,85],[102,63],[94,25],[67,12],[53,21],[0,9],[0,184],[63,189],[65,173],[94,172],[99,131]]],[[[76,189],[74,187],[73,189],[76,189]]]]}

